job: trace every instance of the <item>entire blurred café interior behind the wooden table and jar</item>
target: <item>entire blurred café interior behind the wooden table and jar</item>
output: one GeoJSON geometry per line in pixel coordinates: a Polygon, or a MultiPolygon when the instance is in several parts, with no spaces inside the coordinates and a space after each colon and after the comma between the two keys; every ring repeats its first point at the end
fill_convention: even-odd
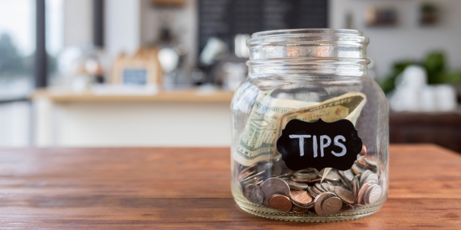
{"type": "Polygon", "coordinates": [[[230,146],[250,34],[370,38],[391,143],[461,152],[459,0],[0,0],[0,146],[230,146]]]}

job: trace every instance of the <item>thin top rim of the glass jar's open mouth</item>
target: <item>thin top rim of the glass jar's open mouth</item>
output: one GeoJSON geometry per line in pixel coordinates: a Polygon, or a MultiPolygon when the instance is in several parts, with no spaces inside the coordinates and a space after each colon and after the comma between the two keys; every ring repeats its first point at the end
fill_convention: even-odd
{"type": "Polygon", "coordinates": [[[363,36],[363,32],[351,29],[331,29],[331,28],[307,28],[307,29],[285,29],[267,30],[252,34],[253,38],[273,37],[273,36],[363,36]]]}

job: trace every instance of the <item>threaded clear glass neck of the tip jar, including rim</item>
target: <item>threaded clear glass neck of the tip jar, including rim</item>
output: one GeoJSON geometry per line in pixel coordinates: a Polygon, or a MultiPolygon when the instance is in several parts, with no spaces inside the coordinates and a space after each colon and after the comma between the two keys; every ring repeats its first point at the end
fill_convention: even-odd
{"type": "Polygon", "coordinates": [[[357,30],[265,31],[247,41],[250,77],[264,74],[362,76],[368,38],[357,30]]]}

